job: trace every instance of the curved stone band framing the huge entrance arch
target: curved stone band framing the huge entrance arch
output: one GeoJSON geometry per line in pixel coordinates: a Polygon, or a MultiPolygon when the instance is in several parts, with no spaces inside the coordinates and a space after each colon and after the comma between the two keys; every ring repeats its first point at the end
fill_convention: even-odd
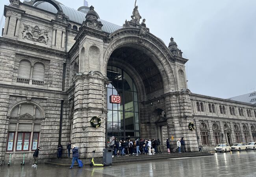
{"type": "Polygon", "coordinates": [[[109,36],[111,38],[111,42],[104,53],[104,74],[106,74],[110,55],[118,48],[130,46],[138,50],[143,50],[144,53],[152,57],[153,62],[158,67],[161,77],[163,78],[165,93],[176,90],[176,81],[169,63],[169,60],[173,58],[173,54],[171,54],[163,42],[151,33],[147,33],[141,44],[138,44],[138,36],[139,29],[136,28],[122,28],[109,36]]]}

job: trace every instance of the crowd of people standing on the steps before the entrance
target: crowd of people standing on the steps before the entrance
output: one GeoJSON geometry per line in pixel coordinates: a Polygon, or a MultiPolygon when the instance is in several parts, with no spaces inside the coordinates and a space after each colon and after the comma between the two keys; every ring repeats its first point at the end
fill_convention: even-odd
{"type": "MultiPolygon", "coordinates": [[[[182,137],[182,140],[177,141],[177,149],[181,147],[178,146],[178,142],[182,145],[182,152],[185,152],[185,141],[182,137]]],[[[114,136],[110,138],[109,146],[113,151],[113,156],[124,156],[124,155],[154,155],[155,153],[161,153],[161,141],[159,139],[138,139],[135,140],[117,140],[114,136]]],[[[171,153],[170,151],[170,142],[169,139],[166,140],[167,152],[171,153]]]]}

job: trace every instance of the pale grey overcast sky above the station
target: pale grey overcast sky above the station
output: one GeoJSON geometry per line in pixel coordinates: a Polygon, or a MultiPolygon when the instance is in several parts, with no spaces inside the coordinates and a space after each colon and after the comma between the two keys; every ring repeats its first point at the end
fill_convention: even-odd
{"type": "MultiPolygon", "coordinates": [[[[9,0],[0,0],[0,14],[9,0]]],[[[22,0],[23,1],[23,0],[22,0]]],[[[59,0],[78,9],[83,0],[59,0]]],[[[135,0],[88,0],[100,18],[122,26],[135,0]]],[[[182,50],[193,93],[229,98],[256,91],[256,0],[137,0],[150,32],[182,50]]]]}

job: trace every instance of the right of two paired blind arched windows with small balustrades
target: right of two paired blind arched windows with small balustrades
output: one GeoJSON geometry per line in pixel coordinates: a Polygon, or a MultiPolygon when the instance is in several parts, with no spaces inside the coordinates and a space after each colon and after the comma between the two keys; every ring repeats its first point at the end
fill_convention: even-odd
{"type": "Polygon", "coordinates": [[[35,63],[33,67],[33,85],[44,85],[45,66],[42,63],[35,63]]]}

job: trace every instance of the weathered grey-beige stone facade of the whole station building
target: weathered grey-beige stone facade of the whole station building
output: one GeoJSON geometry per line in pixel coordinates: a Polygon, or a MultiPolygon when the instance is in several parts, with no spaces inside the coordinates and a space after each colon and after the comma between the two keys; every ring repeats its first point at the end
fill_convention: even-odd
{"type": "MultiPolygon", "coordinates": [[[[173,38],[167,48],[150,33],[145,20],[140,24],[132,17],[123,28],[115,26],[108,31],[109,24],[99,20],[94,7],[80,7],[83,12],[76,13],[86,18],[77,22],[56,1],[43,1],[56,8],[54,13],[33,7],[34,2],[13,0],[4,7],[6,24],[0,38],[1,160],[8,161],[9,153],[14,153],[15,163],[21,161],[22,153],[26,160],[32,160],[37,146],[41,147],[39,159],[56,158],[59,143],[67,157],[69,141],[80,147],[81,158],[91,157],[95,149],[96,157],[101,157],[109,140],[107,87],[115,85],[109,80],[108,66],[121,68],[134,83],[138,105],[134,112],[139,115],[134,124],[139,130],[134,130],[132,138],[160,138],[164,146],[165,139],[170,138],[174,148],[176,140],[185,137],[187,151],[198,151],[198,146],[212,149],[217,137],[214,133],[225,133],[230,143],[238,138],[241,142],[255,140],[256,106],[191,93],[186,82],[188,60],[173,38]],[[197,109],[197,102],[202,103],[202,109],[197,109]],[[209,104],[214,105],[214,111],[209,110],[209,104]],[[225,114],[220,112],[220,105],[226,107],[225,114]],[[235,115],[230,114],[229,107],[234,107],[235,115]],[[244,116],[239,116],[241,108],[244,116]],[[91,126],[93,116],[101,118],[99,128],[91,126]],[[194,122],[195,131],[189,130],[190,122],[194,122]]],[[[122,133],[123,138],[132,135],[128,134],[130,129],[122,133]]]]}

